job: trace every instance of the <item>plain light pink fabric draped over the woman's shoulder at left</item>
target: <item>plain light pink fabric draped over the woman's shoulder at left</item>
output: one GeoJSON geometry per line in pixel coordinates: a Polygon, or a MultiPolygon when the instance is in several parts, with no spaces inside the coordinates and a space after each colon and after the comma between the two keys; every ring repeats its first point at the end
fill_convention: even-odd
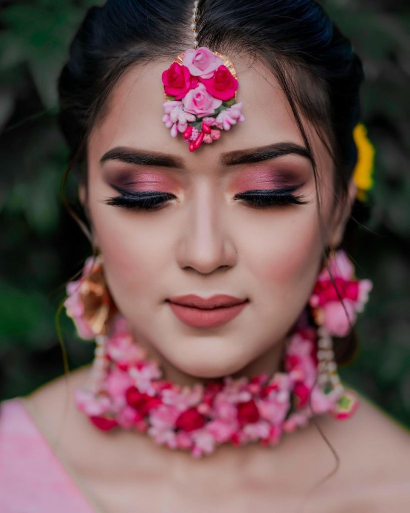
{"type": "Polygon", "coordinates": [[[0,403],[0,511],[94,511],[18,397],[0,403]]]}

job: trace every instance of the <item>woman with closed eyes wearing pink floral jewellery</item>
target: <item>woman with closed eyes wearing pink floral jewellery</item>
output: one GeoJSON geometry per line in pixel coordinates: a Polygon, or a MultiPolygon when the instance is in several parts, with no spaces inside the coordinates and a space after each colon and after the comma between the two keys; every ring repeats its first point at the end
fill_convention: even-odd
{"type": "Polygon", "coordinates": [[[336,369],[372,285],[341,250],[361,81],[311,0],[89,11],[59,98],[96,353],[3,404],[2,511],[408,509],[405,431],[336,369]]]}

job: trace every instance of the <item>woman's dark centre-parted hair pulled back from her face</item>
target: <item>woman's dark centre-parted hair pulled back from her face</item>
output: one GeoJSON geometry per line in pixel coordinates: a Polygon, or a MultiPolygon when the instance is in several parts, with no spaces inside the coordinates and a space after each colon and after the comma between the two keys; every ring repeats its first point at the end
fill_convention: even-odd
{"type": "MultiPolygon", "coordinates": [[[[192,5],[191,0],[108,0],[88,11],[58,82],[60,125],[72,163],[80,164],[80,180],[87,179],[87,137],[104,115],[118,78],[133,64],[164,56],[171,63],[192,46],[192,5]]],[[[301,116],[313,124],[332,155],[333,206],[343,205],[357,160],[353,128],[359,121],[363,71],[350,41],[319,3],[199,0],[197,32],[199,46],[227,55],[247,54],[272,70],[312,156],[319,214],[316,163],[301,116]]],[[[329,248],[323,254],[326,258],[329,248]]],[[[347,361],[356,349],[353,327],[344,342],[336,344],[337,363],[347,361]]]]}

